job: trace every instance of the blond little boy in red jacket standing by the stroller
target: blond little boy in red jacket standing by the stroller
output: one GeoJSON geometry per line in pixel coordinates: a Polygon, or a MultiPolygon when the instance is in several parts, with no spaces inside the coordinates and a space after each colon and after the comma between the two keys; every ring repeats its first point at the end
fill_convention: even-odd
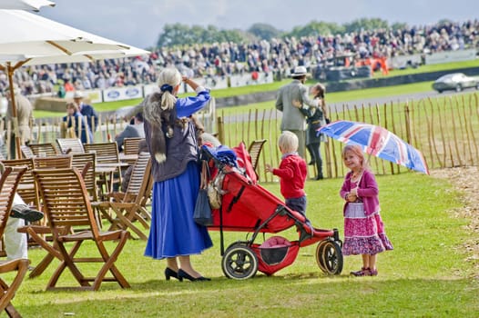
{"type": "Polygon", "coordinates": [[[307,165],[298,154],[298,137],[289,131],[284,131],[278,139],[281,163],[279,168],[266,164],[266,171],[280,177],[280,191],[286,205],[294,211],[306,214],[306,181],[307,165]]]}

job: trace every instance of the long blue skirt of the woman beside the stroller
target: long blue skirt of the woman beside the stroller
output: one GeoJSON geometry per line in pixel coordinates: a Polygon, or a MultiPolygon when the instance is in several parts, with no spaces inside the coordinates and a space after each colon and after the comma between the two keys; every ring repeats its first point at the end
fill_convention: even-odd
{"type": "Polygon", "coordinates": [[[208,229],[193,221],[199,167],[190,162],[175,178],[153,185],[151,228],[145,256],[154,259],[201,253],[213,243],[208,229]]]}

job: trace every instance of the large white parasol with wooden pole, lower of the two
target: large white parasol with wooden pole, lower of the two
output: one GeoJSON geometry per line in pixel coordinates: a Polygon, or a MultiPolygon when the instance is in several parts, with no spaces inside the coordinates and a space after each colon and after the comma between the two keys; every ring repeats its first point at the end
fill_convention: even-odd
{"type": "MultiPolygon", "coordinates": [[[[5,32],[0,33],[0,70],[7,74],[10,87],[13,87],[15,70],[23,65],[75,63],[149,53],[22,10],[0,9],[0,21],[8,25],[5,32]]],[[[13,90],[10,92],[15,105],[15,94],[13,90]]],[[[15,106],[12,108],[19,156],[21,141],[15,106]]]]}

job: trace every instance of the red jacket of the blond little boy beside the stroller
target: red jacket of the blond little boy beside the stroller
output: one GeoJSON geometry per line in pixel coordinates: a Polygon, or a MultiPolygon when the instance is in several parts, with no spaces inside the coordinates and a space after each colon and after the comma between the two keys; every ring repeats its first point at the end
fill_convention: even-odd
{"type": "Polygon", "coordinates": [[[299,198],[305,194],[307,173],[306,162],[298,154],[286,154],[280,167],[273,169],[273,174],[280,177],[280,190],[285,199],[299,198]]]}

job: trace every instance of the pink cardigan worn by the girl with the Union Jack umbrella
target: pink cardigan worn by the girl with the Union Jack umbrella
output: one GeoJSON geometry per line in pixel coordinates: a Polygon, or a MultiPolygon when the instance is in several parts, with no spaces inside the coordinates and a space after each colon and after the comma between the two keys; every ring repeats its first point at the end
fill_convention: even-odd
{"type": "MultiPolygon", "coordinates": [[[[349,172],[344,177],[344,183],[340,190],[340,195],[343,199],[346,197],[346,194],[351,192],[351,175],[352,172],[349,172]]],[[[358,185],[358,197],[362,203],[364,203],[364,211],[366,212],[366,215],[371,215],[381,211],[378,194],[379,189],[374,174],[372,174],[371,171],[365,170],[362,173],[362,178],[358,185]]],[[[348,204],[349,202],[344,204],[344,210],[348,204]]]]}

